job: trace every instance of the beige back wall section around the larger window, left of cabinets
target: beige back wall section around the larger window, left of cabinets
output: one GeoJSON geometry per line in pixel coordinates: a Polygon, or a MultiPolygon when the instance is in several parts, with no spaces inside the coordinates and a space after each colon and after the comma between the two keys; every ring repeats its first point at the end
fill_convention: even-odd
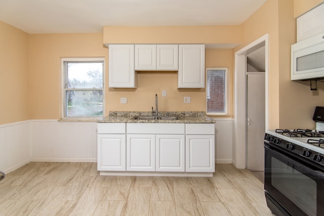
{"type": "Polygon", "coordinates": [[[100,33],[31,34],[31,119],[61,118],[61,58],[63,57],[105,57],[106,68],[108,67],[108,50],[102,44],[100,33]]]}

